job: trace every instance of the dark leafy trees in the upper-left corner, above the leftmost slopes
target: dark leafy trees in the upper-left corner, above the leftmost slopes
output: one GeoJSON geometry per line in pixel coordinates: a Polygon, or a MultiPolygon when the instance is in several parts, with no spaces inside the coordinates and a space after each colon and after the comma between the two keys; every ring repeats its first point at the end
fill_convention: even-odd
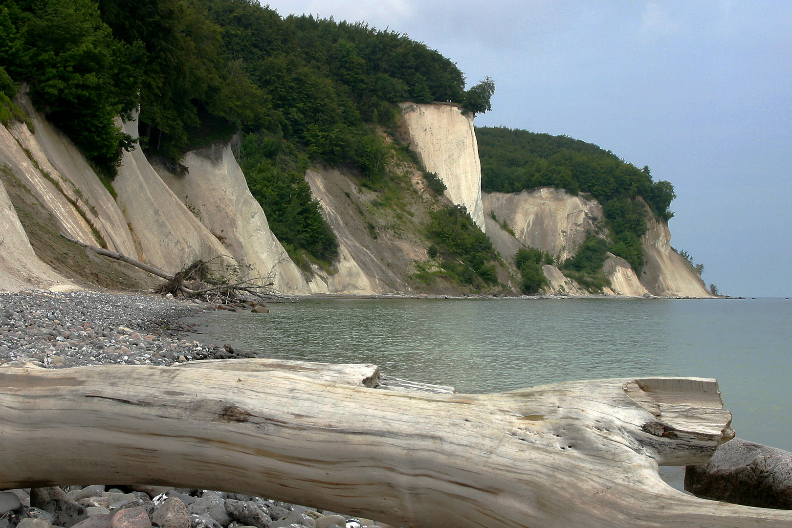
{"type": "Polygon", "coordinates": [[[143,55],[112,36],[91,0],[0,0],[0,64],[98,165],[131,146],[113,120],[135,108],[143,55]]]}

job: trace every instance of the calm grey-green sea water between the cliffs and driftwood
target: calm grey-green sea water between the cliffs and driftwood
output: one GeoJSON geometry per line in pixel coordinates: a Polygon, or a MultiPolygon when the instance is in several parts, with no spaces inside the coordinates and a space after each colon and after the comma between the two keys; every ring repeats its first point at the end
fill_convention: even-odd
{"type": "Polygon", "coordinates": [[[208,313],[208,343],[375,363],[458,392],[575,379],[717,378],[737,435],[792,450],[792,300],[321,299],[208,313]]]}

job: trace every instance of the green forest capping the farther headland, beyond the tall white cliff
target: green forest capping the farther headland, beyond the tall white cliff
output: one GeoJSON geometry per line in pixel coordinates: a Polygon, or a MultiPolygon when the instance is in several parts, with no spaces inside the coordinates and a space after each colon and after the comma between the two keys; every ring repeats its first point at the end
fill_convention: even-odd
{"type": "MultiPolygon", "coordinates": [[[[564,135],[478,127],[476,137],[484,191],[520,192],[551,186],[573,195],[590,194],[602,204],[607,220],[611,236],[605,249],[623,257],[641,275],[645,260],[642,236],[647,229],[644,203],[656,218],[671,218],[668,207],[676,197],[672,184],[654,181],[647,166],[638,169],[610,150],[564,135]]],[[[604,261],[604,254],[600,257],[604,261]]],[[[581,266],[575,263],[577,272],[592,266],[577,268],[581,266]]]]}

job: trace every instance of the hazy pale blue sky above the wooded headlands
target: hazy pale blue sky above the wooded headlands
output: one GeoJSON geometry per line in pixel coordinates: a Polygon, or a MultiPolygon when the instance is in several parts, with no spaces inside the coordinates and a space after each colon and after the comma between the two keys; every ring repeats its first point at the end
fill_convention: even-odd
{"type": "MultiPolygon", "coordinates": [[[[265,2],[263,2],[265,3],[265,2]]],[[[733,297],[792,297],[789,0],[272,0],[406,33],[493,79],[478,126],[569,135],[674,184],[671,244],[733,297]]]]}

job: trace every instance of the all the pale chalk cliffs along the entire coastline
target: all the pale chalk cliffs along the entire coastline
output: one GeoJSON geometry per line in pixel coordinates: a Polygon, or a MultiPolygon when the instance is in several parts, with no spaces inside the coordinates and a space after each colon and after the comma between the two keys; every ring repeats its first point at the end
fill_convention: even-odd
{"type": "MultiPolygon", "coordinates": [[[[5,237],[0,245],[0,289],[74,287],[63,276],[70,264],[56,266],[61,273],[48,266],[54,265],[51,257],[56,251],[50,252],[50,260],[40,259],[40,248],[47,240],[36,238],[38,245],[32,244],[25,229],[36,228],[20,222],[14,205],[44,207],[54,233],[105,245],[166,272],[217,256],[227,264],[238,264],[241,275],[253,270],[256,275],[272,272],[276,289],[284,294],[416,293],[413,288],[422,288],[412,279],[417,263],[431,262],[425,235],[429,214],[443,203],[467,207],[508,264],[525,246],[564,260],[573,256],[588,233],[607,235],[602,207],[594,199],[553,188],[482,195],[472,118],[452,104],[405,103],[402,112],[411,148],[425,169],[444,180],[446,196],[436,198],[427,192],[420,170],[406,162],[398,166],[402,188],[389,191],[401,196],[398,206],[388,207],[380,202],[380,192],[364,188],[354,173],[322,166],[309,169],[306,180],[338,237],[339,257],[329,264],[310,264],[310,272],[305,272],[289,259],[269,230],[230,146],[189,152],[183,160],[188,169],[184,176],[153,167],[139,148],[125,152],[112,184],[117,193],[114,200],[78,149],[29,101],[20,98],[20,104],[31,117],[35,133],[24,123],[0,127],[0,176],[6,186],[13,185],[15,193],[0,189],[0,227],[5,237]],[[27,204],[22,203],[21,189],[30,195],[27,204]],[[14,196],[21,202],[12,205],[14,196]],[[497,221],[489,218],[490,211],[497,221]],[[503,221],[516,236],[500,225],[503,221]]],[[[136,121],[124,123],[124,129],[137,136],[136,121]]],[[[611,279],[606,293],[710,296],[695,269],[671,249],[670,237],[665,222],[650,220],[642,277],[625,260],[610,256],[604,266],[611,279]]],[[[102,263],[98,261],[107,265],[102,263]]],[[[307,269],[308,264],[303,265],[307,269]]],[[[584,294],[558,268],[544,265],[543,271],[549,282],[547,292],[584,294]]],[[[516,287],[512,280],[516,270],[512,268],[512,278],[505,269],[499,273],[501,283],[516,287]]],[[[454,285],[442,281],[436,288],[456,292],[454,285]]]]}

